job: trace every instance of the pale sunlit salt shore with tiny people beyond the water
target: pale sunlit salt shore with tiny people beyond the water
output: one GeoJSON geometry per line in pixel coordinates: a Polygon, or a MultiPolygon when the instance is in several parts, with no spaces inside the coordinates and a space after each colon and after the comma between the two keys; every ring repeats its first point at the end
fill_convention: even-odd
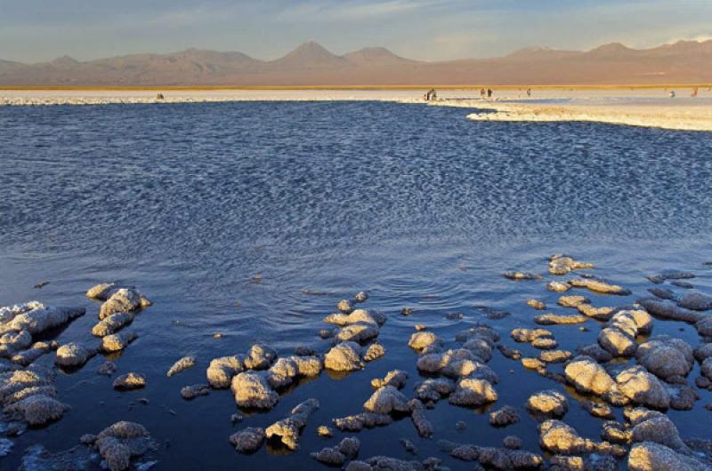
{"type": "Polygon", "coordinates": [[[480,87],[438,87],[437,101],[423,100],[421,87],[235,87],[235,88],[50,88],[0,87],[4,106],[92,106],[109,104],[220,103],[236,101],[381,101],[469,108],[472,121],[588,122],[654,127],[676,131],[712,131],[712,87],[547,86],[498,87],[492,99],[480,87]],[[676,98],[668,97],[675,91],[676,98]],[[164,98],[158,98],[158,93],[164,98]]]}

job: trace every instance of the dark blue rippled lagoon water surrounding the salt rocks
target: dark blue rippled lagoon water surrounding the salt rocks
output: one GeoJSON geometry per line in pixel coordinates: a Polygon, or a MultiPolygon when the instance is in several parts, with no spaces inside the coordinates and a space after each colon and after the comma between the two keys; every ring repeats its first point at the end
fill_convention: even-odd
{"type": "MultiPolygon", "coordinates": [[[[544,273],[546,257],[559,251],[595,262],[597,275],[634,292],[590,296],[597,306],[634,301],[651,285],[644,275],[661,269],[692,270],[693,283],[712,291],[712,267],[702,265],[712,259],[712,134],[473,123],[465,114],[378,103],[0,108],[0,306],[85,305],[87,315],[59,335],[63,343],[91,338],[99,305],[84,292],[95,283],[135,284],[155,303],[132,325],[140,339],[117,359],[119,373],[142,371],[148,387],[114,392],[112,379],[95,372],[101,356],[61,374],[60,399],[73,409],[22,435],[0,465],[16,467],[29,444],[61,451],[129,419],[161,443],[155,469],[320,467],[308,453],[336,439],[321,440],[316,427],[360,411],[370,379],[404,369],[411,395],[417,355],[406,344],[415,323],[452,346],[454,332],[486,320],[477,307],[506,309],[511,316],[488,322],[514,345],[508,331],[538,314],[525,299],[562,312],[546,282],[509,282],[500,275],[506,269],[544,273]],[[263,282],[249,283],[257,274],[263,282]],[[42,281],[50,284],[33,288],[42,281]],[[204,382],[211,358],[243,352],[255,339],[285,354],[297,345],[326,351],[321,318],[360,290],[371,294],[365,307],[389,315],[380,335],[387,354],[365,371],[324,372],[237,427],[229,391],[190,403],[180,397],[182,386],[204,382]],[[404,306],[416,313],[398,315],[404,306]],[[465,318],[446,320],[450,312],[465,318]],[[198,366],[166,379],[189,354],[198,366]],[[150,404],[132,405],[140,397],[150,404]],[[309,397],[321,409],[299,451],[246,457],[231,449],[238,428],[269,425],[309,397]]],[[[598,327],[588,327],[552,331],[573,349],[595,341],[598,327]]],[[[655,332],[699,343],[681,323],[657,321],[655,332]]],[[[439,456],[453,469],[471,465],[439,453],[438,439],[500,446],[519,435],[525,449],[539,451],[537,422],[523,404],[536,390],[565,388],[498,353],[490,366],[500,378],[493,407],[514,405],[520,423],[494,429],[484,410],[441,401],[428,412],[434,439],[402,419],[361,432],[360,457],[410,458],[401,437],[417,444],[419,459],[439,456]]],[[[698,374],[696,366],[690,381],[698,374]]],[[[703,408],[712,397],[698,392],[695,411],[669,412],[684,438],[712,436],[703,408]]],[[[597,438],[601,420],[570,400],[565,420],[597,438]]]]}

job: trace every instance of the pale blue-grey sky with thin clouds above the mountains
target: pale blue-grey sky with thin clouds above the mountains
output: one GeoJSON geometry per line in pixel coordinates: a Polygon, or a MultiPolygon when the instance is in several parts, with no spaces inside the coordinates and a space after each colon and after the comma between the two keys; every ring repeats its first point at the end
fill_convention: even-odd
{"type": "Polygon", "coordinates": [[[277,59],[306,41],[417,60],[712,38],[712,0],[0,0],[0,59],[190,47],[277,59]]]}

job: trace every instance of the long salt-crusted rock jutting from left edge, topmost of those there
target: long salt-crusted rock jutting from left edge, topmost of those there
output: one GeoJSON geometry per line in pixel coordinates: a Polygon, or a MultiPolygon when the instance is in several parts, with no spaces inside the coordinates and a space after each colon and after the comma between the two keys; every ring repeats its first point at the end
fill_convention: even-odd
{"type": "Polygon", "coordinates": [[[0,324],[0,333],[28,331],[30,335],[69,323],[80,315],[85,315],[84,307],[49,307],[36,301],[5,308],[3,317],[12,319],[0,324]]]}

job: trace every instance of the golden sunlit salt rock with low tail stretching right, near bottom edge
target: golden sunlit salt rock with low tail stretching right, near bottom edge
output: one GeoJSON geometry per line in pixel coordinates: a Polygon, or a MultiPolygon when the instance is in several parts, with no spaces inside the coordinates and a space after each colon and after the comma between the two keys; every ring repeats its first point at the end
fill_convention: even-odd
{"type": "Polygon", "coordinates": [[[610,443],[595,443],[583,438],[573,427],[561,420],[546,420],[539,425],[539,444],[541,448],[552,453],[564,455],[580,455],[588,453],[614,454],[624,456],[626,450],[619,445],[610,443]]]}

